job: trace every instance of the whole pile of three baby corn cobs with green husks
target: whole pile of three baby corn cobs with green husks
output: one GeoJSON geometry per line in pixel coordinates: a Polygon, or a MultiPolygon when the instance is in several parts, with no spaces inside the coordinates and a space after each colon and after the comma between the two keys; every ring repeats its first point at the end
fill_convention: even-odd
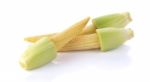
{"type": "Polygon", "coordinates": [[[129,12],[96,17],[86,25],[90,17],[73,24],[60,33],[26,37],[33,44],[24,52],[20,64],[25,69],[34,69],[52,61],[57,51],[98,49],[108,51],[119,47],[133,37],[129,12]]]}

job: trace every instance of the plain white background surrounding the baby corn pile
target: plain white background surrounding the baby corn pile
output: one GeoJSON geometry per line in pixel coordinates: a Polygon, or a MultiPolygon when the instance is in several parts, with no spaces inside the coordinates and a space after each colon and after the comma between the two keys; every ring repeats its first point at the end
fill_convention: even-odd
{"type": "Polygon", "coordinates": [[[150,82],[148,0],[0,0],[0,82],[150,82]],[[86,17],[129,11],[135,37],[123,46],[59,53],[53,63],[23,70],[24,37],[59,32],[86,17]]]}

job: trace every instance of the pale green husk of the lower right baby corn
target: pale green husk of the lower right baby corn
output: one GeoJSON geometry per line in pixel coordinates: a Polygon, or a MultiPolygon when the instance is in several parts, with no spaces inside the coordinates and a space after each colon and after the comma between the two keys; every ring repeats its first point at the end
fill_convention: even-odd
{"type": "Polygon", "coordinates": [[[119,47],[133,37],[133,31],[125,28],[102,28],[96,30],[101,51],[119,47]]]}

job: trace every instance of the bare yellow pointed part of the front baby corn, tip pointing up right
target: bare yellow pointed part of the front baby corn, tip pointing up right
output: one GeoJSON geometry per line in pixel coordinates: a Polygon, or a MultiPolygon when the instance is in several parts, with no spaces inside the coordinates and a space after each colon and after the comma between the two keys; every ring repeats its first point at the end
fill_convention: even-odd
{"type": "Polygon", "coordinates": [[[69,41],[74,39],[78,34],[80,34],[85,27],[85,25],[88,23],[90,17],[87,17],[80,22],[72,25],[67,30],[58,33],[50,38],[55,43],[56,49],[60,50],[62,47],[64,47],[69,41]]]}

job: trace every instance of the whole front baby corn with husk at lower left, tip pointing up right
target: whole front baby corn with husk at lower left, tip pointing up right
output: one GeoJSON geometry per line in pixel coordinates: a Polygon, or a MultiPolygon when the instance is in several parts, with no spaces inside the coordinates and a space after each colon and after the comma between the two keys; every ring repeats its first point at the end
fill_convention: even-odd
{"type": "Polygon", "coordinates": [[[69,29],[52,36],[43,37],[23,53],[20,58],[20,65],[27,70],[41,67],[57,56],[57,51],[64,47],[69,41],[74,39],[83,30],[89,17],[75,23],[69,29]]]}

